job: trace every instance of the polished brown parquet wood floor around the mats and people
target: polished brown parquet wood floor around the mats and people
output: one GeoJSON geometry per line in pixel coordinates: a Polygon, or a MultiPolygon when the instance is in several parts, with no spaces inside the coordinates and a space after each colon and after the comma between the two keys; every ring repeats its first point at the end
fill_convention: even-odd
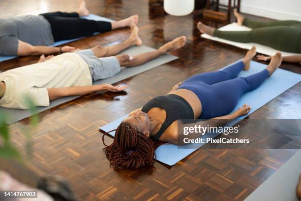
{"type": "MultiPolygon", "coordinates": [[[[41,122],[33,134],[34,152],[26,160],[45,174],[63,176],[79,200],[242,201],[297,152],[205,146],[173,167],[155,163],[155,169],[113,170],[102,150],[98,127],[141,107],[154,96],[166,94],[175,83],[193,74],[217,70],[241,59],[246,51],[200,38],[196,29],[199,20],[215,27],[222,24],[206,21],[198,12],[184,17],[162,16],[149,9],[147,0],[87,0],[87,4],[91,13],[115,20],[138,14],[145,45],[158,48],[180,35],[187,37],[187,45],[173,52],[180,59],[121,81],[128,85],[127,94],[87,95],[40,113],[41,122]]],[[[76,9],[76,0],[0,1],[0,17],[76,9]]],[[[128,35],[129,30],[123,29],[69,45],[84,49],[121,41],[128,35]]],[[[20,57],[1,62],[0,70],[37,59],[20,57]]],[[[283,64],[281,68],[301,73],[300,65],[283,64]]],[[[249,118],[301,119],[300,100],[301,83],[249,118]]],[[[17,146],[24,144],[22,128],[28,123],[25,119],[9,126],[17,146]]]]}

